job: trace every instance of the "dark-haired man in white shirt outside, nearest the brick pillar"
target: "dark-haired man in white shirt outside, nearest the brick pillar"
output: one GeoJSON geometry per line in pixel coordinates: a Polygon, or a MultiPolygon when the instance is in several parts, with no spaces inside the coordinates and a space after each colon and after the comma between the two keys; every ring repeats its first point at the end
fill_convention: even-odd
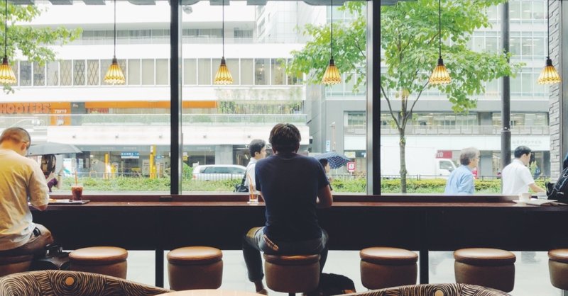
{"type": "Polygon", "coordinates": [[[503,169],[503,195],[527,193],[528,188],[534,192],[545,192],[535,184],[527,165],[530,161],[530,148],[519,146],[515,149],[515,159],[503,169]]]}

